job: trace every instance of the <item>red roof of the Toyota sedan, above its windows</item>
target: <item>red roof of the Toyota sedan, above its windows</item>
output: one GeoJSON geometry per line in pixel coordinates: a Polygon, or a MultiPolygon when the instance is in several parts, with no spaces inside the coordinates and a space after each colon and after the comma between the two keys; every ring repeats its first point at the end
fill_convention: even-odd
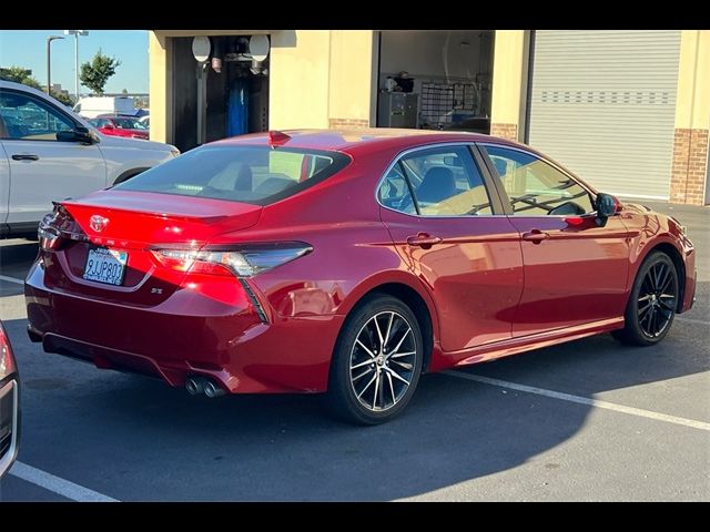
{"type": "MultiPolygon", "coordinates": [[[[366,127],[357,130],[283,130],[291,139],[277,145],[304,150],[327,150],[355,154],[379,150],[402,151],[408,147],[452,142],[495,142],[516,146],[506,141],[481,133],[460,131],[405,130],[366,127]]],[[[212,145],[270,145],[270,133],[233,136],[211,143],[212,145]]],[[[525,146],[527,149],[527,146],[525,146]]]]}

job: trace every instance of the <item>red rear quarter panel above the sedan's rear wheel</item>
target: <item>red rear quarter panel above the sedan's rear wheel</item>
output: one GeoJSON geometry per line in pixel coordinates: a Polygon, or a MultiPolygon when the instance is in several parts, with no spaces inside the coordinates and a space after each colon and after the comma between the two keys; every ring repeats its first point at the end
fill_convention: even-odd
{"type": "Polygon", "coordinates": [[[429,307],[436,338],[433,301],[379,219],[374,191],[389,158],[354,162],[307,192],[266,206],[253,228],[224,234],[213,244],[298,241],[313,246],[308,255],[251,282],[281,317],[345,316],[373,288],[399,283],[429,307]]]}

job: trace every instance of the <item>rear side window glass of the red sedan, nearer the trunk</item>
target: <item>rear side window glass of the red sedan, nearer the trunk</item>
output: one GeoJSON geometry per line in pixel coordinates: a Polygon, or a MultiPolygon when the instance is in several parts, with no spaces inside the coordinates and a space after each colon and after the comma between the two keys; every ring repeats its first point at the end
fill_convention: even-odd
{"type": "Polygon", "coordinates": [[[493,214],[483,175],[466,146],[403,156],[383,181],[378,197],[385,206],[422,216],[493,214]]]}

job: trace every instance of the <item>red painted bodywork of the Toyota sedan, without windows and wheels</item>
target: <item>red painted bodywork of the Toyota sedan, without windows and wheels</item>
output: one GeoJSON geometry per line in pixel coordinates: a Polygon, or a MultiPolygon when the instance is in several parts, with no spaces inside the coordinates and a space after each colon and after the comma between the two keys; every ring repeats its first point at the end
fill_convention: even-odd
{"type": "MultiPolygon", "coordinates": [[[[53,225],[64,238],[40,250],[26,282],[31,338],[47,351],[172,386],[196,375],[230,392],[318,392],[346,316],[373,290],[406,290],[424,301],[428,371],[622,327],[636,273],[658,246],[682,265],[678,311],[692,305],[692,244],[672,218],[645,207],[622,205],[600,227],[579,216],[412,216],[376,200],[403,151],[487,143],[537,153],[527,146],[410,130],[286,133],[284,146],[336,151],[352,162],[266,206],[120,188],[62,202],[53,225]],[[93,215],[109,218],[103,232],[90,227],[93,215]],[[528,241],[536,232],[546,239],[528,241]],[[442,242],[408,244],[417,235],[442,242]],[[282,241],[313,250],[240,282],[171,269],[151,250],[282,241]],[[81,277],[90,245],[130,254],[122,286],[81,277]]],[[[212,145],[268,146],[270,135],[212,145]]]]}

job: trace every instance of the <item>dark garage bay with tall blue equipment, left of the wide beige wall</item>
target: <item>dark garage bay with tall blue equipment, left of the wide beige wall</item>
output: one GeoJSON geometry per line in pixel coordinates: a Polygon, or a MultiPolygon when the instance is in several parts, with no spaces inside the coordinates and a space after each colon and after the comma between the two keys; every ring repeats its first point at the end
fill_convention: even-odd
{"type": "Polygon", "coordinates": [[[206,142],[268,129],[268,58],[250,53],[251,35],[210,35],[203,64],[192,37],[173,39],[173,139],[185,152],[206,142]],[[204,81],[204,132],[200,139],[200,83],[204,81]]]}

